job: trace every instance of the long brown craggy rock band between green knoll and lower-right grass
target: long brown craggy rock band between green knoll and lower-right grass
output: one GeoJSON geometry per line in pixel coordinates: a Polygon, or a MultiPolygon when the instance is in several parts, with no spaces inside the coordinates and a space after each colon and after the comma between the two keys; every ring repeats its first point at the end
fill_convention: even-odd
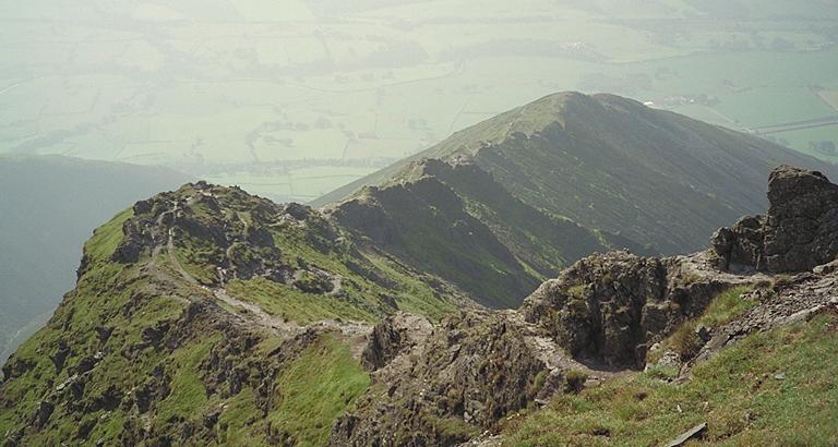
{"type": "Polygon", "coordinates": [[[372,331],[372,386],[337,420],[333,446],[454,446],[611,371],[642,367],[646,346],[707,309],[733,275],[705,255],[592,255],[517,311],[466,311],[434,327],[407,315],[372,331]],[[570,354],[570,355],[568,355],[570,354]]]}

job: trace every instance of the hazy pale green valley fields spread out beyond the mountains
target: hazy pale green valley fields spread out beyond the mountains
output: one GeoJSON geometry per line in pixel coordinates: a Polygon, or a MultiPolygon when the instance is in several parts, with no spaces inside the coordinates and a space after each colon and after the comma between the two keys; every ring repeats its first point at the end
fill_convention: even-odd
{"type": "MultiPolygon", "coordinates": [[[[558,90],[754,133],[838,117],[838,8],[814,0],[89,4],[0,5],[0,152],[304,201],[558,90]]],[[[812,149],[837,129],[770,137],[838,161],[812,149]]]]}

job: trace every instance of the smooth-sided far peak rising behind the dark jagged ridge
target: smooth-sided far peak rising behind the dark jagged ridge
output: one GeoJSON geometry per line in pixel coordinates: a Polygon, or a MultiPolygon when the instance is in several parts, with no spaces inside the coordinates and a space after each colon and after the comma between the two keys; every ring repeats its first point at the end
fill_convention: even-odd
{"type": "Polygon", "coordinates": [[[398,183],[422,158],[469,160],[525,204],[655,251],[699,250],[710,233],[765,209],[765,178],[790,164],[836,169],[766,141],[613,95],[561,93],[315,201],[398,183]]]}

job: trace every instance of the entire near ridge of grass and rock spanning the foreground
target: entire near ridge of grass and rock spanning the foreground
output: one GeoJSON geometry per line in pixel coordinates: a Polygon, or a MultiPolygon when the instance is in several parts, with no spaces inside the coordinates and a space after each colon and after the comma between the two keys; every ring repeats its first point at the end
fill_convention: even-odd
{"type": "MultiPolygon", "coordinates": [[[[403,188],[454,194],[426,174],[403,188]]],[[[783,167],[769,186],[766,222],[838,206],[821,173],[783,167]]],[[[469,225],[458,209],[434,213],[469,225]]],[[[786,253],[835,257],[810,241],[838,229],[815,220],[786,253]]],[[[742,274],[727,246],[591,255],[520,309],[486,311],[339,219],[188,184],[96,230],[75,290],[2,369],[0,433],[9,446],[657,445],[706,422],[709,442],[834,444],[838,261],[742,274]]]]}

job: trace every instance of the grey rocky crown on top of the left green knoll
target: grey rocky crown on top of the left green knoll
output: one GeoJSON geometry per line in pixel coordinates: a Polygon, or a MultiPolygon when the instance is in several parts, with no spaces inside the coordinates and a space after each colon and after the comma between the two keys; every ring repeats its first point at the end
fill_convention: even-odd
{"type": "MultiPolygon", "coordinates": [[[[132,210],[111,256],[113,262],[137,263],[171,240],[184,264],[213,267],[196,278],[206,286],[266,278],[306,293],[326,294],[335,292],[339,283],[338,277],[289,258],[276,246],[271,229],[277,227],[288,228],[289,233],[299,230],[322,253],[342,243],[339,230],[308,206],[277,205],[237,188],[197,182],[137,202],[132,210]]],[[[80,277],[88,264],[86,256],[80,277]]]]}

